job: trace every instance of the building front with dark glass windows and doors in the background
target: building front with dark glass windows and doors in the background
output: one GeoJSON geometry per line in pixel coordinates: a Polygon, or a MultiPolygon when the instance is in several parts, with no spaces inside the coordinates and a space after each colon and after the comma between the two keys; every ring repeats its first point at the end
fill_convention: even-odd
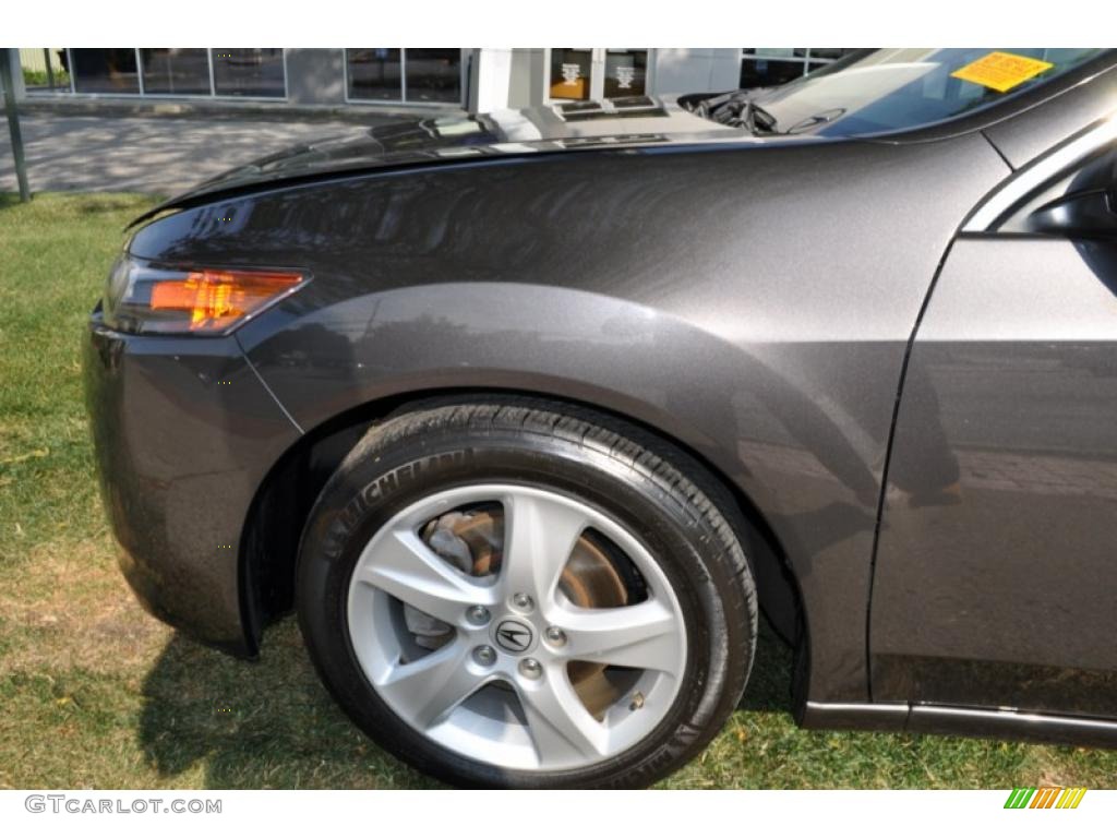
{"type": "Polygon", "coordinates": [[[34,98],[176,99],[303,107],[494,111],[782,84],[844,49],[20,49],[34,98]]]}

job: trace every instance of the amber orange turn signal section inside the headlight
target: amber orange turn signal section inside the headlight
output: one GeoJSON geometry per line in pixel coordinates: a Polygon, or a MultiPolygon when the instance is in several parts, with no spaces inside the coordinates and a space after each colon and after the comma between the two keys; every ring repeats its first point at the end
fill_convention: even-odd
{"type": "Polygon", "coordinates": [[[303,282],[300,274],[198,270],[152,285],[151,310],[189,314],[191,332],[220,332],[303,282]]]}

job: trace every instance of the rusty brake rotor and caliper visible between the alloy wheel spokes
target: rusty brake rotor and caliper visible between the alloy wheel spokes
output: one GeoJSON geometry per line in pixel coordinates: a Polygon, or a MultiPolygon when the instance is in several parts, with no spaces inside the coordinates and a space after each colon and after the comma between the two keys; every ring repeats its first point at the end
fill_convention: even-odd
{"type": "MultiPolygon", "coordinates": [[[[430,521],[420,537],[438,555],[464,573],[487,577],[500,571],[504,550],[504,510],[487,504],[450,512],[430,521]]],[[[583,533],[558,580],[558,590],[579,608],[618,608],[629,602],[629,591],[605,546],[583,533]]],[[[417,645],[438,649],[454,638],[454,628],[429,615],[403,606],[408,630],[417,645]]],[[[573,660],[566,672],[585,708],[600,718],[621,692],[605,673],[607,665],[573,660]]]]}

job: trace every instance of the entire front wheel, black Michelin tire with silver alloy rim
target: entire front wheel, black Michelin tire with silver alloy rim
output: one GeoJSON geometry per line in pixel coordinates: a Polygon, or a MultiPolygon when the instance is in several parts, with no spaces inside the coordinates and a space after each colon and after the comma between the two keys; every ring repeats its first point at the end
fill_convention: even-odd
{"type": "Polygon", "coordinates": [[[756,598],[728,507],[689,457],[611,418],[414,406],[323,489],[299,622],[344,710],[422,771],[646,785],[709,742],[747,678],[756,598]]]}

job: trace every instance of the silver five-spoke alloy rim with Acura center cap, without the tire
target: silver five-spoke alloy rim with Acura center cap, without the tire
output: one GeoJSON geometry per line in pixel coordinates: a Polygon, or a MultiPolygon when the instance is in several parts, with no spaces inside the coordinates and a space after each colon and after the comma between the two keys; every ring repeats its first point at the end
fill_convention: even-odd
{"type": "Polygon", "coordinates": [[[508,769],[631,747],[686,666],[678,599],[640,541],[528,486],[458,487],[400,512],[356,561],[347,619],[361,669],[403,722],[508,769]]]}

